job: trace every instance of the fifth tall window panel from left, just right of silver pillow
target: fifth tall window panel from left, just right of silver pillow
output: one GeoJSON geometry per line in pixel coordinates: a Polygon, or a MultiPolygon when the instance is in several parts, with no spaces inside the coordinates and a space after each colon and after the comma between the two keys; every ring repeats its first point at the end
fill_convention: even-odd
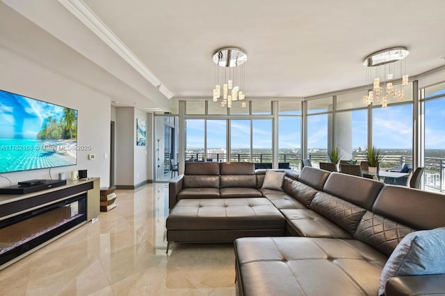
{"type": "Polygon", "coordinates": [[[300,170],[301,102],[281,101],[278,109],[278,163],[300,170]]]}

